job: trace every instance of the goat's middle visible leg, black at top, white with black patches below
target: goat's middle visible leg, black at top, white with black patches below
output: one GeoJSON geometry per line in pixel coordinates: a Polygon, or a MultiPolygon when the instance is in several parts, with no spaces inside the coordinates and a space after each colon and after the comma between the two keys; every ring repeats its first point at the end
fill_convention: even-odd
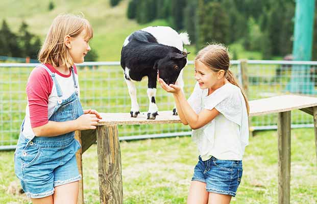
{"type": "Polygon", "coordinates": [[[148,111],[148,119],[155,119],[158,115],[157,105],[155,101],[156,96],[156,72],[152,75],[148,76],[148,97],[149,97],[149,111],[148,111]]]}

